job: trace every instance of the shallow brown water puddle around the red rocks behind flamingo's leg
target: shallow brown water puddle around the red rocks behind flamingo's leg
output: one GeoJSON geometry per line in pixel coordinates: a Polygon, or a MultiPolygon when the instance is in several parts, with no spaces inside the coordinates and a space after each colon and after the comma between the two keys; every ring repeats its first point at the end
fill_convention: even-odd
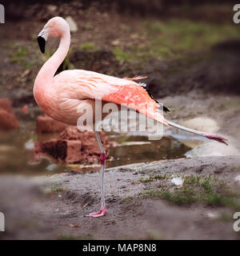
{"type": "MultiPolygon", "coordinates": [[[[53,134],[38,135],[33,121],[21,123],[21,130],[0,133],[0,174],[57,174],[65,171],[98,170],[98,165],[56,164],[42,158],[33,162],[34,142],[46,141],[53,134]]],[[[161,140],[148,140],[147,136],[109,134],[110,140],[118,146],[110,147],[110,159],[106,167],[122,166],[138,162],[151,162],[162,159],[182,158],[190,146],[171,136],[161,140]]]]}

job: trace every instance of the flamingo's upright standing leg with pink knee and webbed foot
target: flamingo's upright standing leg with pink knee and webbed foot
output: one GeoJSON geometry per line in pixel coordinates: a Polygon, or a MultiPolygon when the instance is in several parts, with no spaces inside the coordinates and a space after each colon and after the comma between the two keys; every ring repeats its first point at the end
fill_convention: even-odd
{"type": "Polygon", "coordinates": [[[95,213],[91,213],[91,214],[87,214],[86,216],[88,217],[94,217],[94,218],[98,218],[98,217],[102,217],[106,214],[106,206],[105,206],[105,178],[104,178],[104,174],[105,174],[105,163],[106,163],[106,153],[103,149],[102,146],[102,142],[99,136],[98,131],[95,131],[95,135],[98,141],[98,146],[99,149],[101,151],[101,155],[100,155],[100,162],[101,162],[101,170],[100,170],[100,180],[101,180],[101,207],[100,210],[98,212],[95,213]]]}

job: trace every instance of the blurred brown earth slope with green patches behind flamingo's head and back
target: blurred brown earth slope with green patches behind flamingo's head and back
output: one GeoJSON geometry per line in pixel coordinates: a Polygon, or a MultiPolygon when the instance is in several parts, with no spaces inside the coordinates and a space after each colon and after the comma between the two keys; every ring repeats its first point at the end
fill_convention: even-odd
{"type": "MultiPolygon", "coordinates": [[[[54,53],[50,40],[46,54],[39,54],[36,37],[57,15],[67,18],[72,26],[70,53],[63,69],[94,70],[120,77],[147,75],[146,83],[154,97],[195,89],[239,93],[239,86],[235,86],[238,58],[226,57],[233,51],[232,55],[238,54],[239,27],[233,22],[234,4],[230,1],[3,4],[6,23],[1,24],[1,91],[9,91],[11,97],[16,98],[11,94],[19,94],[18,89],[32,89],[42,63],[54,53]],[[204,82],[199,82],[202,77],[204,82]]],[[[13,104],[20,101],[14,99],[13,104]]],[[[34,100],[25,95],[24,103],[28,102],[34,100]]]]}

